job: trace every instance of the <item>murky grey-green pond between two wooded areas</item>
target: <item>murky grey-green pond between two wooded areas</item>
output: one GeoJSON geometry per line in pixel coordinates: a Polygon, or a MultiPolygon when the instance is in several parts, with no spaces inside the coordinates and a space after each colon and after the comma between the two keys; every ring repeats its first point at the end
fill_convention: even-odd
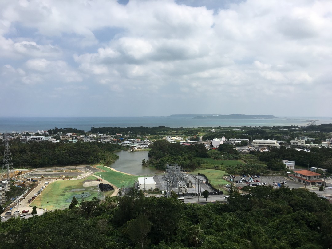
{"type": "Polygon", "coordinates": [[[120,158],[117,159],[114,163],[107,165],[109,167],[112,167],[113,169],[136,176],[143,176],[143,175],[155,174],[156,172],[160,172],[156,169],[150,169],[145,166],[142,166],[141,160],[143,158],[145,158],[145,160],[149,159],[148,151],[128,152],[125,150],[121,150],[115,152],[115,154],[117,154],[120,158]]]}

